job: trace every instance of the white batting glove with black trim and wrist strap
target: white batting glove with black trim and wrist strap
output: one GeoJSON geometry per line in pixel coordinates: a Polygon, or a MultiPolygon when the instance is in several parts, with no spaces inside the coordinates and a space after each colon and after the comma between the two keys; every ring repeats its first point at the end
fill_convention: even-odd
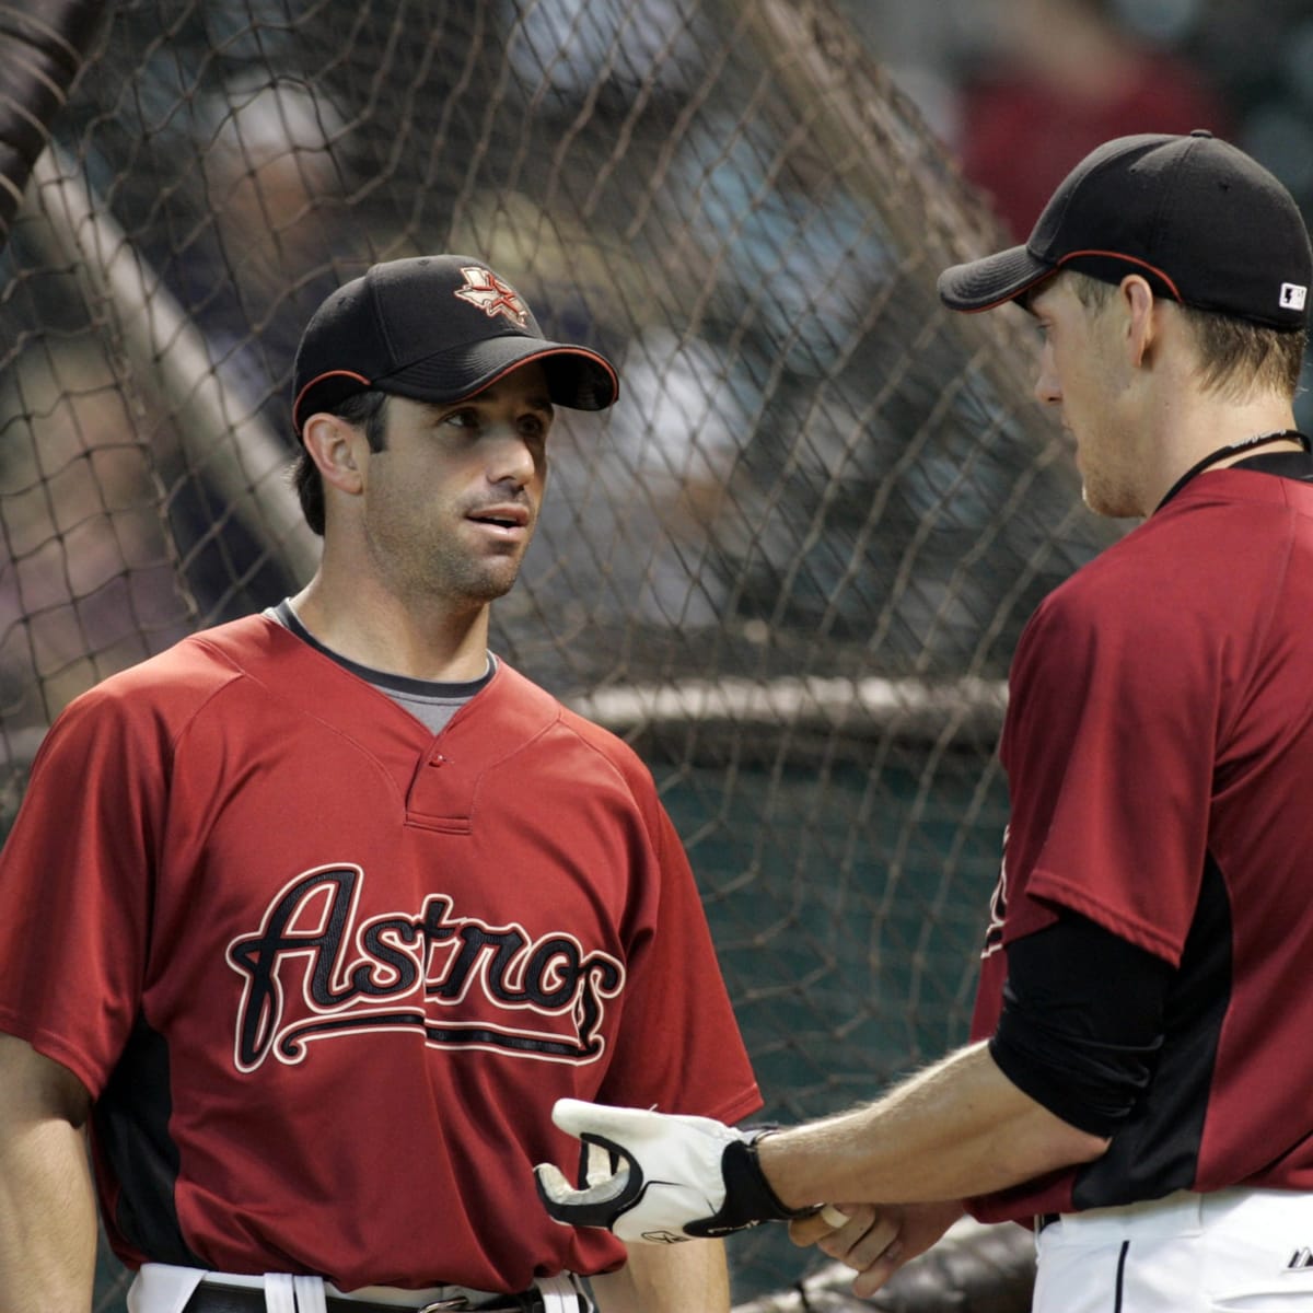
{"type": "Polygon", "coordinates": [[[604,1226],[624,1241],[672,1245],[814,1212],[786,1208],[762,1174],[755,1145],[771,1127],[735,1130],[710,1117],[580,1099],[558,1099],[551,1120],[618,1162],[609,1175],[590,1170],[582,1190],[551,1163],[534,1169],[538,1197],[563,1225],[604,1226]]]}

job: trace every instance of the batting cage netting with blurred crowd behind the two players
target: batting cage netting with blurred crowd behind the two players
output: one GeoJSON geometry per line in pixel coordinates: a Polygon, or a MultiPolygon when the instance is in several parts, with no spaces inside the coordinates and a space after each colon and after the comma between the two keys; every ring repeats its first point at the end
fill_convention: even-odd
{"type": "MultiPolygon", "coordinates": [[[[1004,239],[830,0],[25,0],[0,42],[0,819],[71,697],[309,578],[324,294],[471,253],[622,381],[558,419],[495,647],[651,765],[767,1115],[961,1043],[1008,658],[1117,529],[1024,330],[940,309],[1004,239]]],[[[855,1306],[781,1228],[731,1262],[855,1306]]],[[[872,1306],[1020,1310],[1028,1264],[961,1230],[872,1306]]]]}

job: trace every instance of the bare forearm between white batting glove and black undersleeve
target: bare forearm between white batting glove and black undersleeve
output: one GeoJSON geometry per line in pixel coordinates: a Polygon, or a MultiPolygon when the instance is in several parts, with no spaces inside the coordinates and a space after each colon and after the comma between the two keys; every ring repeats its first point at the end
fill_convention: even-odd
{"type": "Polygon", "coordinates": [[[873,1104],[768,1136],[758,1153],[776,1194],[804,1207],[966,1199],[1106,1148],[1023,1094],[979,1044],[873,1104]]]}

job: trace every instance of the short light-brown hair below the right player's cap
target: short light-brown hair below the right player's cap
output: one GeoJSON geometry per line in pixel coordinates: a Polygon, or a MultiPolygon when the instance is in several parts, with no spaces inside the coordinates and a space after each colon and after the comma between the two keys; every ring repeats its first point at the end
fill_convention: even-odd
{"type": "MultiPolygon", "coordinates": [[[[1066,270],[1071,286],[1087,310],[1102,310],[1116,284],[1066,270]]],[[[1249,319],[1176,305],[1190,326],[1199,351],[1203,386],[1224,395],[1245,394],[1251,387],[1291,397],[1299,391],[1308,332],[1304,328],[1270,328],[1249,319]]]]}

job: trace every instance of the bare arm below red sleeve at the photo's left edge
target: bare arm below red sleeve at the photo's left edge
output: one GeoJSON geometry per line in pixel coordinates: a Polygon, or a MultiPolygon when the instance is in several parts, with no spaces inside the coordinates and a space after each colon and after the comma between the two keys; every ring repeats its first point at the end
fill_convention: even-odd
{"type": "Polygon", "coordinates": [[[0,1309],[87,1313],[96,1204],[72,1078],[0,1036],[0,1309]]]}

